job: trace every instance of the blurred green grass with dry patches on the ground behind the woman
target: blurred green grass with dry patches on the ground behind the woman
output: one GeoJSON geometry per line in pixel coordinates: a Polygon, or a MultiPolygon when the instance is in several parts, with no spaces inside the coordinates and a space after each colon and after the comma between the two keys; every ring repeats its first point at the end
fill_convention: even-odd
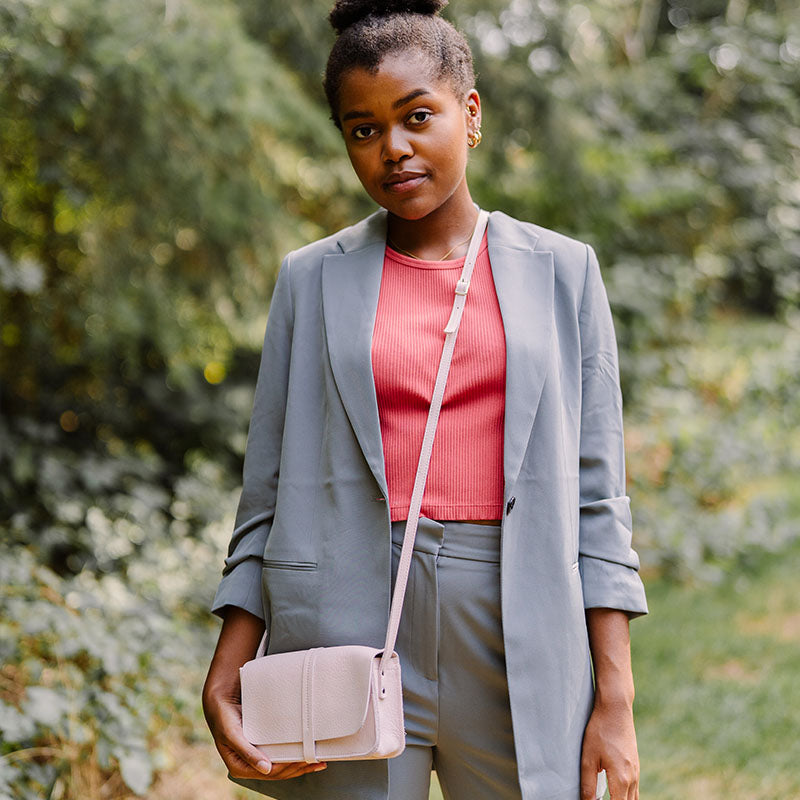
{"type": "MultiPolygon", "coordinates": [[[[650,614],[631,626],[643,800],[800,797],[798,575],[795,546],[714,586],[647,581],[650,614]]],[[[257,797],[210,742],[176,756],[150,800],[257,797]]]]}

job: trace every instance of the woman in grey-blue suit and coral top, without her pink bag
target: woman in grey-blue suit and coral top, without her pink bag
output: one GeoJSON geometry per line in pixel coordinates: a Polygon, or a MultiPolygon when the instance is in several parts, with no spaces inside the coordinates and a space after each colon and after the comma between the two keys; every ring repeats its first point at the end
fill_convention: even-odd
{"type": "Polygon", "coordinates": [[[443,2],[340,0],[325,89],[381,209],[290,253],[270,306],[204,689],[231,777],[279,798],[638,798],[630,547],[611,316],[591,248],[490,215],[456,343],[397,650],[406,749],[269,764],[238,667],[383,644],[444,327],[476,222],[481,105],[443,2]],[[502,592],[501,592],[502,587],[502,592]],[[594,681],[592,679],[594,672],[594,681]],[[594,684],[594,685],[593,685],[594,684]]]}

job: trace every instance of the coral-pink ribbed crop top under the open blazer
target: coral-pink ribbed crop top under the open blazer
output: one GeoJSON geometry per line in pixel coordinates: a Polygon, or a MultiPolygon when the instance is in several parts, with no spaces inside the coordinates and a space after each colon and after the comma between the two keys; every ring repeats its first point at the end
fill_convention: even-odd
{"type": "MultiPolygon", "coordinates": [[[[386,248],[372,339],[392,521],[406,519],[444,326],[464,259],[419,261],[386,248]]],[[[447,378],[421,513],[501,519],[506,350],[486,234],[447,378]]]]}

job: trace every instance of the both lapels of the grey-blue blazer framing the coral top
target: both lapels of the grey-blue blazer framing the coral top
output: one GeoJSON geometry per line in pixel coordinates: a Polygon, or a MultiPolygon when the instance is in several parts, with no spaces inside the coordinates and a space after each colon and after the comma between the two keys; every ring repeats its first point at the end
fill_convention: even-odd
{"type": "MultiPolygon", "coordinates": [[[[372,372],[387,216],[379,209],[337,235],[340,252],[323,260],[322,306],[336,386],[367,464],[388,497],[372,372]]],[[[493,211],[487,236],[506,336],[505,502],[519,475],[545,382],[554,268],[553,254],[536,250],[539,235],[530,225],[493,211]]],[[[467,303],[465,313],[469,298],[467,303]]]]}

